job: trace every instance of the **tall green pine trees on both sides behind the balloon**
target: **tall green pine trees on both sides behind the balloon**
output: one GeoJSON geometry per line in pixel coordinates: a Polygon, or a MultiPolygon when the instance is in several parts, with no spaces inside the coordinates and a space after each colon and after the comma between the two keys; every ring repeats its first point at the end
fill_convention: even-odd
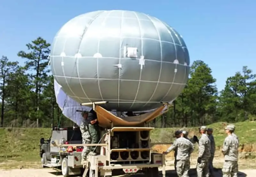
{"type": "MultiPolygon", "coordinates": [[[[53,76],[48,67],[50,44],[41,37],[18,52],[25,64],[0,59],[0,127],[70,126],[61,114],[54,94],[53,76]]],[[[190,67],[189,79],[172,108],[152,121],[155,127],[188,127],[214,122],[238,122],[256,118],[256,74],[241,67],[218,91],[211,68],[201,60],[190,67]]]]}

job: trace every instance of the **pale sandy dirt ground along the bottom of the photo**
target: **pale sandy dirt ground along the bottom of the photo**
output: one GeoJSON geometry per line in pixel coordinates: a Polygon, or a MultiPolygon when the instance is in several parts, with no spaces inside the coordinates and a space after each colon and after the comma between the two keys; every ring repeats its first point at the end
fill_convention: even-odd
{"type": "MultiPolygon", "coordinates": [[[[168,167],[166,171],[166,177],[176,177],[174,170],[171,170],[173,167],[168,167]]],[[[61,172],[56,173],[52,169],[15,169],[15,170],[0,170],[0,176],[2,177],[62,177],[61,172]]],[[[238,177],[255,177],[256,170],[241,170],[238,177]]],[[[145,175],[129,175],[130,177],[145,177],[145,175]]],[[[161,172],[159,177],[162,176],[161,172]]],[[[191,169],[189,171],[190,177],[196,177],[196,170],[191,169]]],[[[215,177],[221,177],[221,170],[215,172],[215,177]]],[[[127,177],[127,176],[126,176],[127,177]]]]}

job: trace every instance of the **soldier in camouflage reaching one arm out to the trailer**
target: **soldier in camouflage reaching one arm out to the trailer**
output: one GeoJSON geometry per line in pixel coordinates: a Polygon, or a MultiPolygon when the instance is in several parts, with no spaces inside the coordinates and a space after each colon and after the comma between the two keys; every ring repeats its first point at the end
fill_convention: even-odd
{"type": "Polygon", "coordinates": [[[171,145],[167,151],[163,153],[168,154],[172,150],[177,149],[176,172],[179,177],[188,177],[188,170],[190,168],[190,154],[194,151],[194,145],[184,137],[184,133],[182,133],[181,137],[177,138],[173,145],[171,145]]]}

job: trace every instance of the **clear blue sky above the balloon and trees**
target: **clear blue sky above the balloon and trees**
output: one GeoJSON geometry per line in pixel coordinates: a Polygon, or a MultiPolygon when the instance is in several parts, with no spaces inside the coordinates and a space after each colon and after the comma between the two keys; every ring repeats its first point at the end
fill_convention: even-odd
{"type": "Polygon", "coordinates": [[[228,76],[249,66],[256,72],[256,1],[253,0],[3,0],[0,5],[0,55],[18,58],[26,44],[56,32],[75,16],[96,10],[131,10],[155,16],[185,40],[191,63],[200,59],[212,68],[218,89],[228,76]]]}

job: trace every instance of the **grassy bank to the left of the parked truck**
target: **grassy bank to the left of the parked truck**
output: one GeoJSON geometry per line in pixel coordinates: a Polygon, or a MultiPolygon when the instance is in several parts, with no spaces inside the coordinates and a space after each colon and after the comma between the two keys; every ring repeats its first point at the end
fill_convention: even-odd
{"type": "Polygon", "coordinates": [[[48,128],[1,128],[0,168],[35,166],[40,162],[40,138],[50,134],[48,128]]]}

